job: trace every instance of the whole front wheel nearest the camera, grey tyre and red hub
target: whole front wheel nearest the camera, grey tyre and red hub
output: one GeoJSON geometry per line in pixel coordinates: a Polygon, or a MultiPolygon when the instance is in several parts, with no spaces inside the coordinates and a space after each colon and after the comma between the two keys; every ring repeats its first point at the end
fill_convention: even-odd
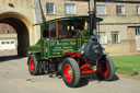
{"type": "Polygon", "coordinates": [[[77,61],[73,58],[67,58],[62,62],[62,79],[63,82],[70,86],[74,88],[80,81],[80,70],[77,61]]]}

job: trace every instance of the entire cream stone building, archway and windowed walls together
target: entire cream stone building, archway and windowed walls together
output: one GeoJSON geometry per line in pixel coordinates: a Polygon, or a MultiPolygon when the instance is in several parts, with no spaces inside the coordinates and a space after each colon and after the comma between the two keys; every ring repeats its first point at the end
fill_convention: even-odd
{"type": "MultiPolygon", "coordinates": [[[[37,0],[0,0],[0,23],[8,23],[18,33],[18,53],[23,55],[40,36],[37,0]],[[24,39],[23,39],[24,38],[24,39]]],[[[89,0],[40,0],[46,21],[88,15],[89,0]]],[[[96,0],[96,13],[103,18],[101,44],[108,54],[140,50],[140,0],[96,0]]],[[[97,27],[98,28],[98,27],[97,27]]]]}

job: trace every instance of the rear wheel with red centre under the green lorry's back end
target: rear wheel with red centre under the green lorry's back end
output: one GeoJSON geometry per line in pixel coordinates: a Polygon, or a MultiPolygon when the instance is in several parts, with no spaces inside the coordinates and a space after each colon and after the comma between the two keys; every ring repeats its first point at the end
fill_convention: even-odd
{"type": "Polygon", "coordinates": [[[35,59],[34,55],[28,57],[28,71],[32,75],[38,74],[38,61],[35,59]]]}

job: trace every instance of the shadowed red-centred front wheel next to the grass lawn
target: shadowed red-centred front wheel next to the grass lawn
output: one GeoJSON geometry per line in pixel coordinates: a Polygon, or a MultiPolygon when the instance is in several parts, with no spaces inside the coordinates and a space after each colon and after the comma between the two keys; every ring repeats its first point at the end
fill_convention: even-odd
{"type": "Polygon", "coordinates": [[[114,61],[110,59],[109,56],[102,57],[102,59],[98,61],[97,77],[101,80],[109,81],[114,78],[114,75],[115,75],[114,61]]]}

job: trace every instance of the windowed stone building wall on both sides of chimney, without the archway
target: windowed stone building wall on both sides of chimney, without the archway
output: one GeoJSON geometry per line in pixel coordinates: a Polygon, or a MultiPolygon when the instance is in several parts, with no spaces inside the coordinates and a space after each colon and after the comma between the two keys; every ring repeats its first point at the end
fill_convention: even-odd
{"type": "MultiPolygon", "coordinates": [[[[89,0],[42,0],[46,20],[88,15],[89,0]]],[[[97,0],[101,44],[108,54],[140,50],[140,0],[97,0]]]]}

